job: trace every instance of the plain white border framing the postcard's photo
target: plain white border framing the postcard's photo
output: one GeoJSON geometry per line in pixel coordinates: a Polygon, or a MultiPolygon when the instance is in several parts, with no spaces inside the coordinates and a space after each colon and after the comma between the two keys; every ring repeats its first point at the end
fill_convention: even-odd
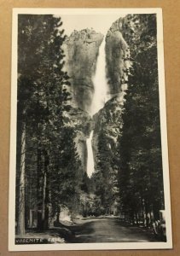
{"type": "Polygon", "coordinates": [[[49,251],[49,250],[116,250],[116,249],[165,249],[172,248],[171,198],[169,182],[169,163],[167,148],[165,73],[162,9],[13,9],[12,33],[12,73],[11,73],[11,126],[9,161],[9,251],[49,251]],[[158,73],[160,92],[160,129],[162,142],[163,177],[165,193],[166,242],[111,242],[111,243],[73,243],[15,245],[15,166],[16,166],[16,115],[17,115],[17,17],[19,14],[37,15],[107,15],[107,14],[156,14],[158,40],[158,73]]]}

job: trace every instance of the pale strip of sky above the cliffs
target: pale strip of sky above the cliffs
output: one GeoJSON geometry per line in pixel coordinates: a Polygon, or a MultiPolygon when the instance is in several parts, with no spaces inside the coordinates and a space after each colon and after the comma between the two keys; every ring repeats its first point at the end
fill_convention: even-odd
{"type": "Polygon", "coordinates": [[[80,31],[85,28],[93,28],[105,35],[113,22],[123,16],[125,15],[61,15],[61,28],[65,30],[67,36],[70,36],[73,30],[80,31]]]}

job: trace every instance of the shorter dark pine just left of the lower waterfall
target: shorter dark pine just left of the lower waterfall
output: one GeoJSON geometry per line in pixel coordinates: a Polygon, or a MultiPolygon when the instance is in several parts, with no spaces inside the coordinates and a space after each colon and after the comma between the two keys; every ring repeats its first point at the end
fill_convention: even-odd
{"type": "Polygon", "coordinates": [[[61,137],[57,137],[54,144],[57,150],[52,155],[50,171],[53,216],[59,216],[63,206],[68,207],[72,212],[72,217],[73,213],[78,211],[82,169],[75,143],[73,142],[74,137],[73,128],[65,127],[61,131],[61,137]]]}

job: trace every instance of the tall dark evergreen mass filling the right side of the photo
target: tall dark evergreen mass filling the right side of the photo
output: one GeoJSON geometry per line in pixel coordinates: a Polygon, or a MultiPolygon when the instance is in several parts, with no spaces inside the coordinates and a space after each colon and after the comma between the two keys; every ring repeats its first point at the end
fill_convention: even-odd
{"type": "Polygon", "coordinates": [[[156,15],[129,15],[133,26],[131,71],[119,137],[119,189],[122,210],[132,221],[149,223],[164,207],[160,142],[160,103],[156,15]]]}

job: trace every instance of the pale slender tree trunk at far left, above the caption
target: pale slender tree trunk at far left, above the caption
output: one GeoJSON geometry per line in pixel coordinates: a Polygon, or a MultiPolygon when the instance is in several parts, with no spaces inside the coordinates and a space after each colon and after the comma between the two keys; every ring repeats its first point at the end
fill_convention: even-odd
{"type": "Polygon", "coordinates": [[[18,223],[17,234],[25,234],[25,160],[26,160],[26,124],[22,125],[22,134],[20,140],[20,190],[18,205],[18,223]]]}

